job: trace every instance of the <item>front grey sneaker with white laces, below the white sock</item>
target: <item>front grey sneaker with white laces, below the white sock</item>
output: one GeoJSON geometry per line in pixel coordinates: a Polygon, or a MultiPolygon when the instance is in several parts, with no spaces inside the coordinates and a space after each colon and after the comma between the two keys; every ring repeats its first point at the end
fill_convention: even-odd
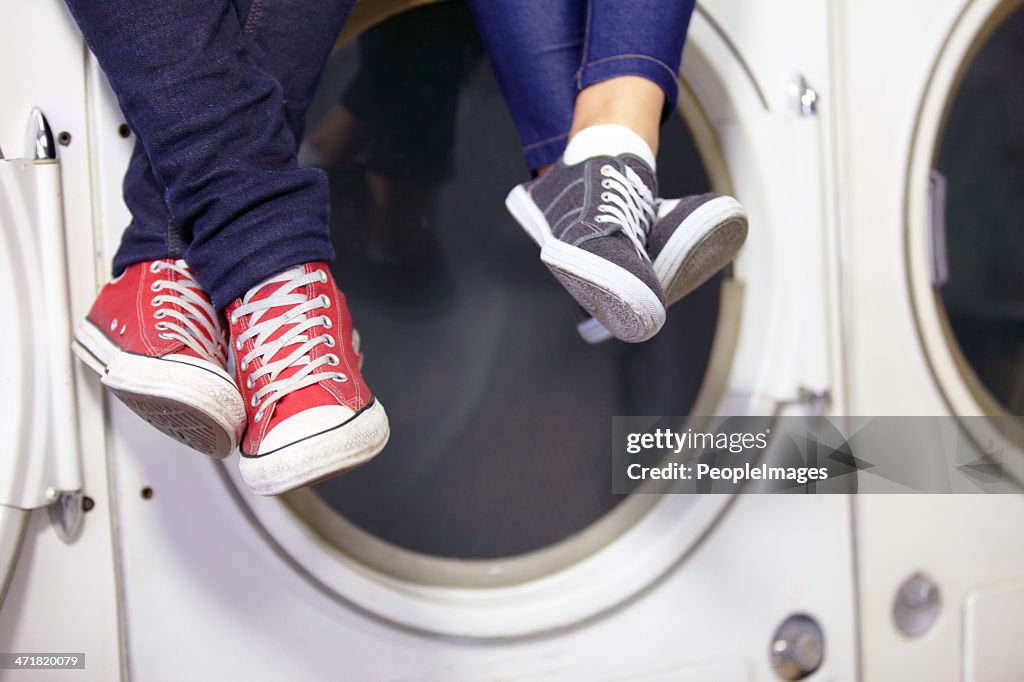
{"type": "Polygon", "coordinates": [[[665,324],[662,286],[644,249],[655,188],[639,157],[593,157],[573,166],[559,161],[505,201],[548,269],[623,341],[646,341],[665,324]]]}

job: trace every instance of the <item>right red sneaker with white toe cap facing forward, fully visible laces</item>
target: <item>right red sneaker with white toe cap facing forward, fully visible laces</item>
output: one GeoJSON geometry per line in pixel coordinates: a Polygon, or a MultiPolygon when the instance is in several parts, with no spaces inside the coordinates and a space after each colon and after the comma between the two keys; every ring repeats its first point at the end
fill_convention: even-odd
{"type": "Polygon", "coordinates": [[[384,447],[387,415],[359,373],[345,297],[325,263],[265,280],[225,313],[249,416],[240,467],[255,493],[344,473],[384,447]]]}

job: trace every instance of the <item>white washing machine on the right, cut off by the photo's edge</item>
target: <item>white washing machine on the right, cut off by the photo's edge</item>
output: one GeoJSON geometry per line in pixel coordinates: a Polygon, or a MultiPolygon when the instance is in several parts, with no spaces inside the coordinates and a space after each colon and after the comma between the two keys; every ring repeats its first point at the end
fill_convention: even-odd
{"type": "MultiPolygon", "coordinates": [[[[966,461],[1005,442],[997,475],[1018,481],[1024,185],[1001,66],[1019,62],[1022,11],[837,4],[835,36],[850,409],[970,416],[966,461]]],[[[1020,496],[855,500],[864,679],[1020,679],[1022,514],[1020,496]],[[935,602],[919,635],[892,616],[914,585],[935,602]]]]}

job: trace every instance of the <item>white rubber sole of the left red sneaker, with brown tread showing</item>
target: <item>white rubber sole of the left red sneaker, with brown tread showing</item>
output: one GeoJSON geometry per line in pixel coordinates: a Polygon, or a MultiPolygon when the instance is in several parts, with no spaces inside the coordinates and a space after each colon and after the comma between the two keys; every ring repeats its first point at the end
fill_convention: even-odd
{"type": "Polygon", "coordinates": [[[204,455],[223,459],[246,427],[242,395],[226,372],[188,356],[129,353],[86,321],[72,350],[132,412],[162,433],[204,455]]]}

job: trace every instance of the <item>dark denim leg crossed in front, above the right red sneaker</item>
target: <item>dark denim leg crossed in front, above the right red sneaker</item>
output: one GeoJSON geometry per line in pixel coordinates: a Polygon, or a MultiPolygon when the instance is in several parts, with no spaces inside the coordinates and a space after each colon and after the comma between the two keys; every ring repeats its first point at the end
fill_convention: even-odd
{"type": "Polygon", "coordinates": [[[291,265],[333,258],[326,177],[297,165],[286,118],[297,119],[228,0],[68,5],[217,307],[291,265]]]}

